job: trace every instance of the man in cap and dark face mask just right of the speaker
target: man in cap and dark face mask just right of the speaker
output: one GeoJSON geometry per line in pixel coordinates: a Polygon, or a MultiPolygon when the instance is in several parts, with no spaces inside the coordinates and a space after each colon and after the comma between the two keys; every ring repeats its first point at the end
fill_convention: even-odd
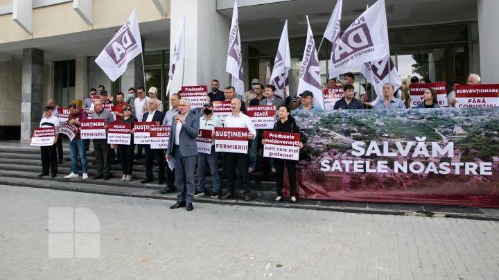
{"type": "Polygon", "coordinates": [[[211,172],[211,182],[213,184],[212,198],[220,196],[220,174],[218,173],[218,152],[215,151],[215,128],[222,128],[222,121],[218,116],[213,114],[213,103],[207,102],[203,105],[204,116],[200,117],[200,130],[211,130],[211,152],[205,154],[204,152],[198,153],[198,188],[195,190],[194,195],[205,193],[206,187],[204,186],[204,179],[206,177],[206,164],[208,164],[211,172]]]}

